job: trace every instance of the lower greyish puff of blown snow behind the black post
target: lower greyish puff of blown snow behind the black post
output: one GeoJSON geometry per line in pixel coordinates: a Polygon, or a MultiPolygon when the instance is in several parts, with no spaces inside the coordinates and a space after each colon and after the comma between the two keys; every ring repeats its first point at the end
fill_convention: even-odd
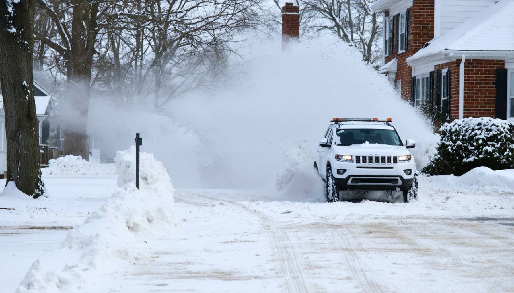
{"type": "Polygon", "coordinates": [[[172,182],[181,186],[199,187],[201,175],[216,160],[191,129],[144,106],[116,108],[102,100],[93,100],[88,132],[105,154],[130,147],[139,132],[143,138],[141,151],[154,153],[167,168],[172,182]]]}

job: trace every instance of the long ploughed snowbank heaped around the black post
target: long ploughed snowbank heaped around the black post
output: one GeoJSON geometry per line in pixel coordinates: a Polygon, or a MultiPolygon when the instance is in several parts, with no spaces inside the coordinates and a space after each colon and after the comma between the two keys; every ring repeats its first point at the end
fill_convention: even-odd
{"type": "Polygon", "coordinates": [[[32,264],[16,292],[70,292],[138,257],[138,246],[174,227],[173,186],[153,154],[140,154],[141,180],[135,181],[135,148],[116,154],[117,192],[82,226],[68,232],[61,247],[32,264]]]}

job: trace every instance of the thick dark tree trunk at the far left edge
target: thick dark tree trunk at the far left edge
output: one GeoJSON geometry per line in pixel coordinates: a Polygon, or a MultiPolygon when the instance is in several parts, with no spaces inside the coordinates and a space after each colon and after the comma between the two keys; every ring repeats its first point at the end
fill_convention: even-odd
{"type": "Polygon", "coordinates": [[[41,179],[39,127],[35,111],[32,53],[34,1],[0,5],[0,84],[7,136],[7,180],[37,198],[41,179]]]}

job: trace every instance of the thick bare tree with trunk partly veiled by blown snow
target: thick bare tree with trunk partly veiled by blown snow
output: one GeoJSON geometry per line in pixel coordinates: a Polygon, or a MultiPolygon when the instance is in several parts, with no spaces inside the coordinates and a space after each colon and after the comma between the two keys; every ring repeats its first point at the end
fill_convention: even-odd
{"type": "MultiPolygon", "coordinates": [[[[64,61],[68,92],[61,103],[66,143],[64,152],[89,158],[86,134],[87,113],[91,86],[91,69],[97,35],[112,2],[107,0],[36,0],[52,22],[56,33],[35,31],[41,46],[57,52],[57,61],[64,61]]],[[[42,19],[46,17],[41,17],[42,19]]],[[[36,25],[36,29],[40,26],[36,25]]]]}

